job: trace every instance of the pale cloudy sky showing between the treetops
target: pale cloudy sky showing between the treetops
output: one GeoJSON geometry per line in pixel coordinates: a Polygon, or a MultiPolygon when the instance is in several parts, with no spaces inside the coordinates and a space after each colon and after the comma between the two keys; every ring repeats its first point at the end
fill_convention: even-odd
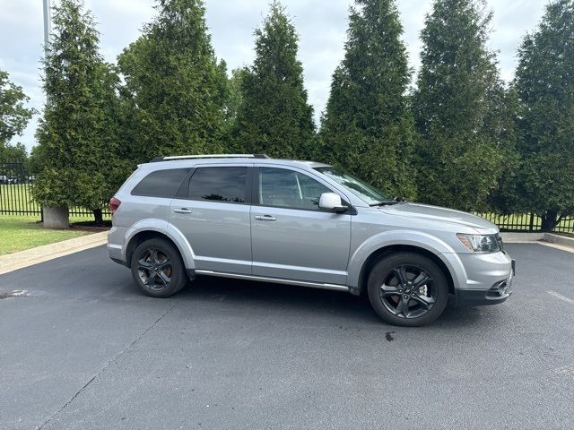
{"type": "MultiPolygon", "coordinates": [[[[54,3],[57,0],[52,0],[54,3]]],[[[491,49],[500,51],[500,72],[512,79],[516,50],[526,31],[534,30],[547,0],[488,0],[494,12],[491,49]]],[[[100,48],[109,62],[137,39],[142,24],[152,20],[154,0],[86,0],[99,23],[100,48]]],[[[268,0],[206,0],[206,19],[218,57],[230,69],[253,59],[253,30],[268,9],[268,0]]],[[[283,0],[300,34],[300,60],[305,71],[309,102],[318,120],[325,108],[331,75],[344,56],[347,15],[351,0],[283,0]]],[[[431,0],[397,0],[404,25],[404,41],[416,69],[419,35],[431,0]]],[[[30,106],[41,109],[45,96],[39,82],[43,43],[42,0],[0,0],[0,68],[10,73],[30,96],[30,106]]],[[[35,144],[36,118],[15,142],[35,144]]]]}

